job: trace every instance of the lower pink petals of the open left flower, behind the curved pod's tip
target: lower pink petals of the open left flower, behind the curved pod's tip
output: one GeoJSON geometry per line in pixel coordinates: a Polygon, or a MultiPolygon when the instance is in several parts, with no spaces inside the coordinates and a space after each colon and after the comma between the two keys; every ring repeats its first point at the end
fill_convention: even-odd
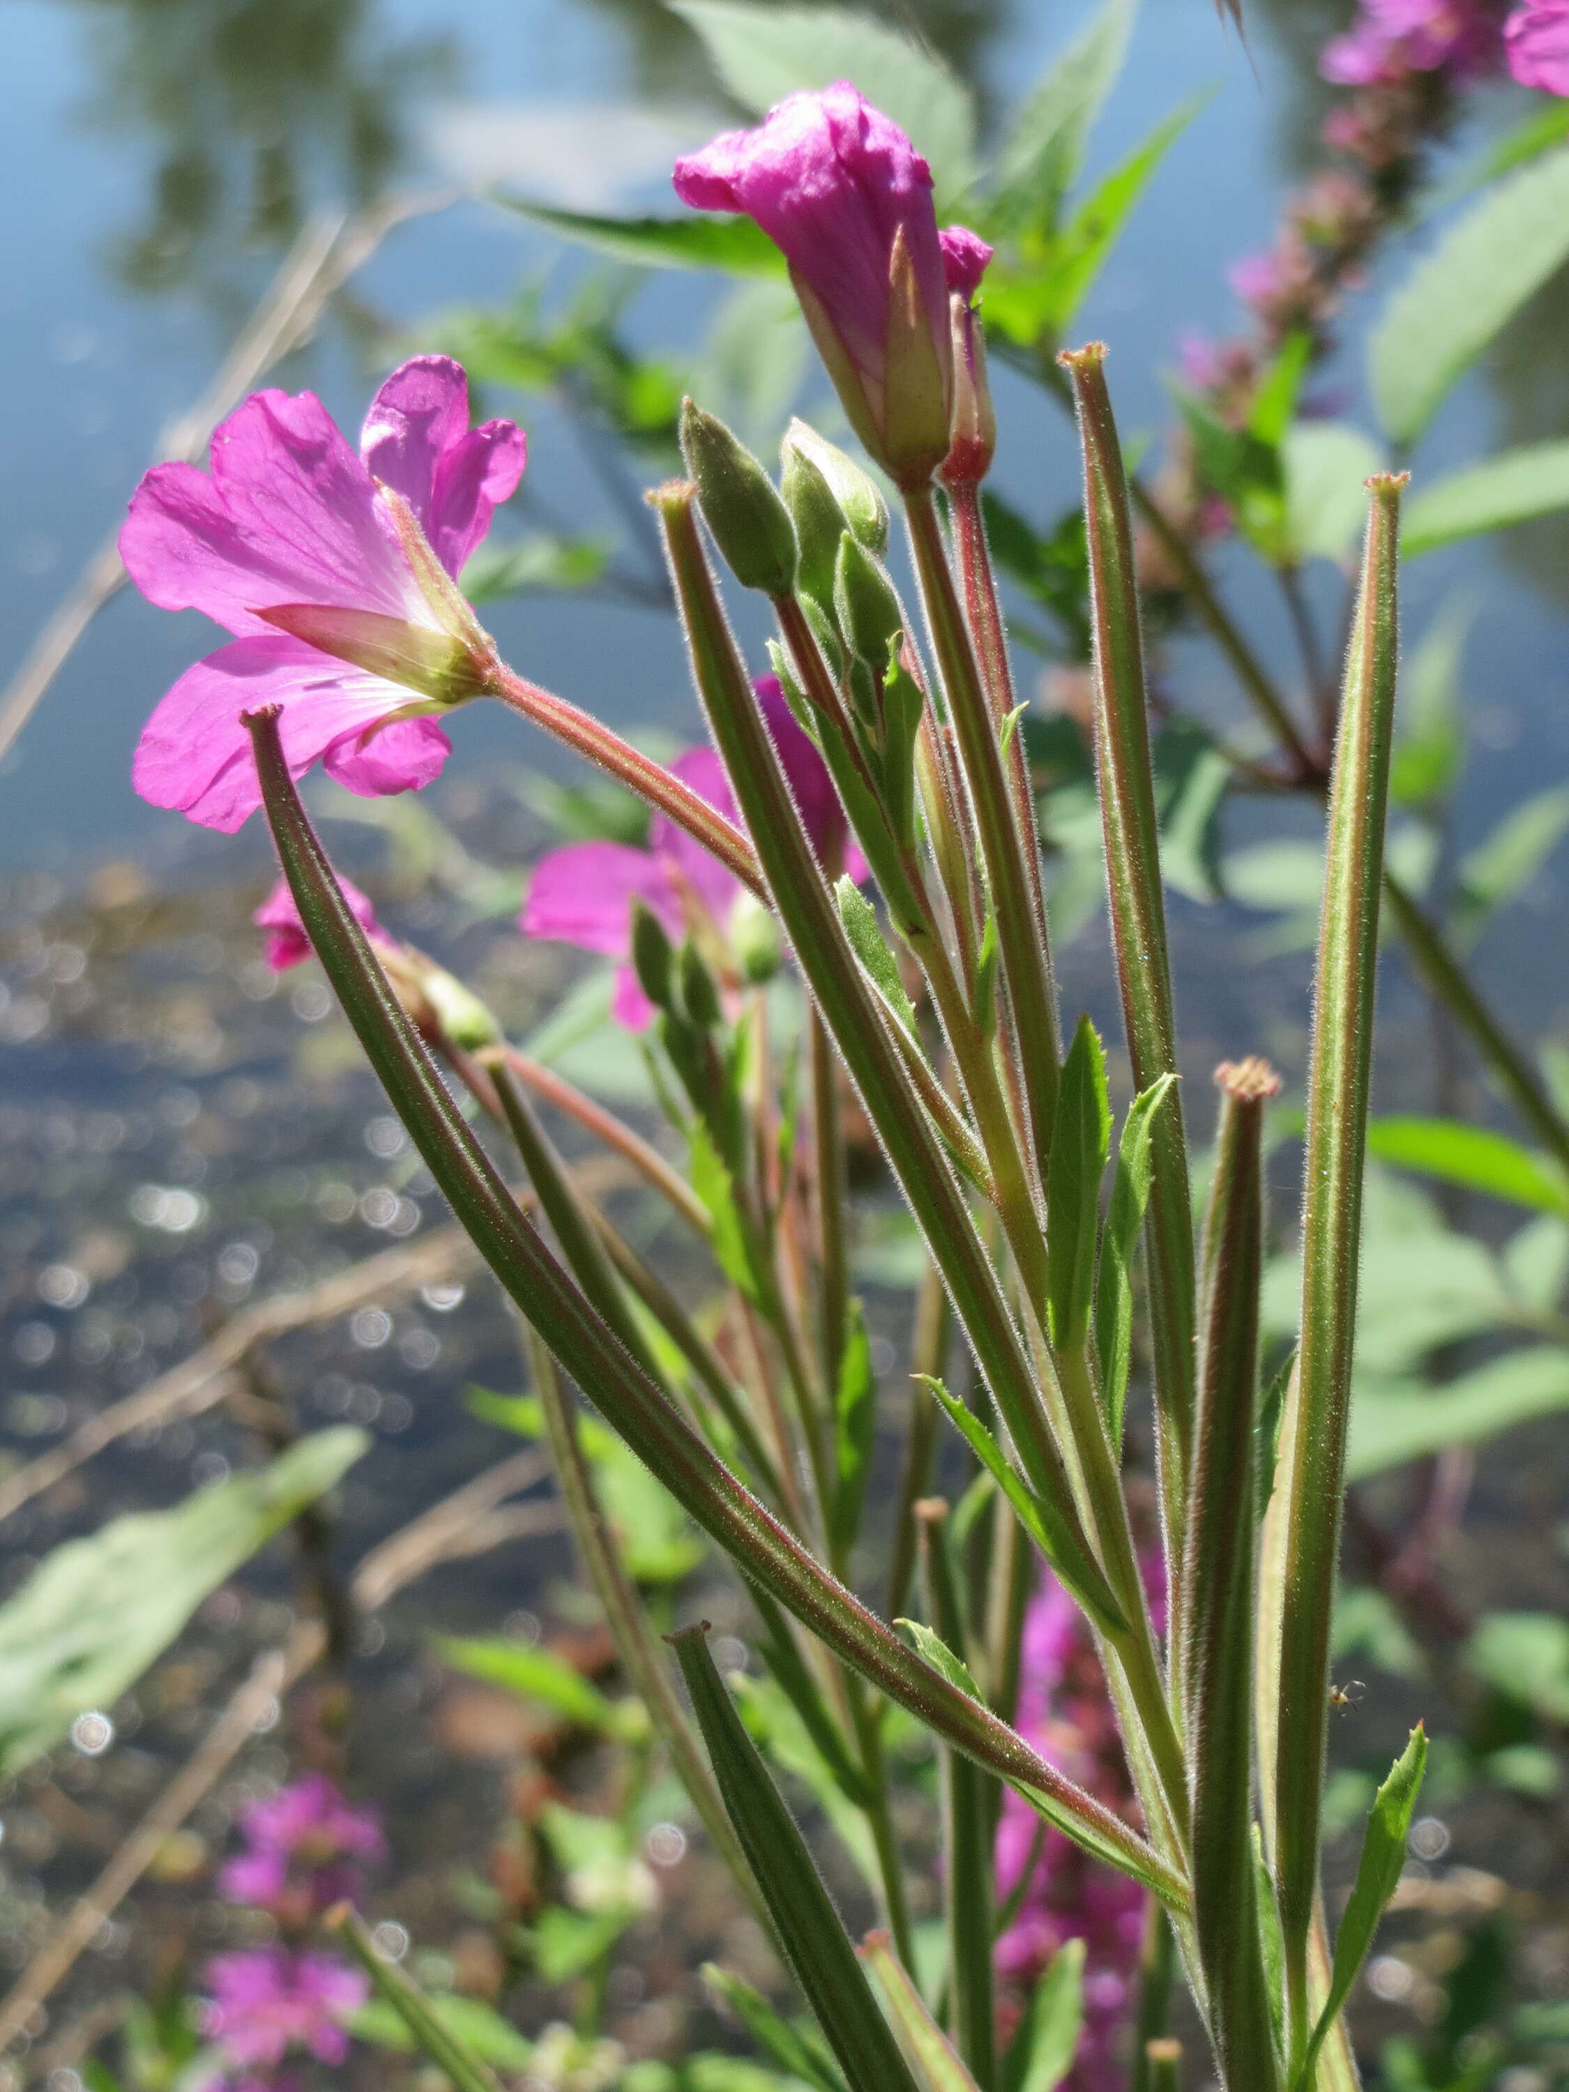
{"type": "Polygon", "coordinates": [[[282,705],[278,722],[291,776],[320,757],[364,795],[416,791],[439,772],[448,738],[431,720],[400,722],[366,749],[366,726],[397,711],[408,692],[280,634],[220,646],[188,667],[142,730],[132,782],[153,805],[232,835],[262,803],[243,711],[282,705]],[[343,745],[343,747],[339,747],[343,745]]]}

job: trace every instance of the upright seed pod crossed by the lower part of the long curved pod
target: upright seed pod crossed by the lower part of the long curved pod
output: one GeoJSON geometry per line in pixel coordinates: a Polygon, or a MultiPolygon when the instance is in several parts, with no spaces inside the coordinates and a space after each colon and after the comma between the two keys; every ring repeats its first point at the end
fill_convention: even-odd
{"type": "MultiPolygon", "coordinates": [[[[948,1542],[948,1504],[927,1498],[916,1504],[920,1519],[920,1567],[927,1613],[950,1648],[964,1646],[964,1609],[954,1579],[948,1542]]],[[[948,1929],[950,2025],[958,2054],[975,2077],[990,2086],[996,2069],[996,2002],[992,1992],[992,1782],[954,1749],[941,1751],[943,1807],[943,1923],[948,1929]]],[[[868,1941],[870,1946],[870,1941],[868,1941]]],[[[877,1962],[874,1962],[877,1966],[877,1962]]],[[[887,1987],[887,1985],[885,1985],[887,1987]]],[[[918,2036],[918,2021],[895,2010],[906,2048],[918,2036]]],[[[935,2033],[935,2029],[933,2029],[935,2033]]],[[[933,2061],[948,2044],[925,2044],[933,2061]]],[[[952,2056],[952,2050],[950,2050],[952,2056]]],[[[956,2061],[956,2059],[954,2059],[956,2061]]],[[[931,2077],[931,2069],[927,2069],[931,2077]]],[[[948,2084],[967,2082],[964,2073],[948,2084]]],[[[933,2079],[937,2088],[941,2079],[933,2079]]],[[[943,2088],[946,2092],[946,2088],[943,2088]]]]}

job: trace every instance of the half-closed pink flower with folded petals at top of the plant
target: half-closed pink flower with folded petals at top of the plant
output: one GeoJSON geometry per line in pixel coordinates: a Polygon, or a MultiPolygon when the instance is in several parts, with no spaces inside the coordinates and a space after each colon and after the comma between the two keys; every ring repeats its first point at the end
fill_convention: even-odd
{"type": "MultiPolygon", "coordinates": [[[[948,270],[931,169],[900,126],[847,79],[787,94],[757,130],[678,159],[676,195],[764,228],[856,433],[895,479],[925,483],[948,450],[948,270]]],[[[969,241],[960,266],[979,280],[969,241]]]]}

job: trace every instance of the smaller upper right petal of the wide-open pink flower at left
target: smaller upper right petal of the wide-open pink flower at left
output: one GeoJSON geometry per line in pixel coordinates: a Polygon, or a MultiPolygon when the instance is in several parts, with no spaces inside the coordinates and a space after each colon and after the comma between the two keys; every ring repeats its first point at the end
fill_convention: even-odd
{"type": "Polygon", "coordinates": [[[387,379],[360,435],[374,479],[402,494],[435,556],[456,575],[523,475],[523,431],[469,427],[469,379],[450,356],[414,356],[387,379]]]}

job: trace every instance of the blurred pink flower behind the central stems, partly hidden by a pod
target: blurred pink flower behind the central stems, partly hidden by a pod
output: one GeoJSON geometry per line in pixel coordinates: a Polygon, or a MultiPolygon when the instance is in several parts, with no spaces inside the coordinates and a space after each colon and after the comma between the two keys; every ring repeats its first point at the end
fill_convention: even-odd
{"type": "MultiPolygon", "coordinates": [[[[831,877],[849,872],[851,879],[864,879],[866,862],[849,841],[828,768],[795,722],[778,678],[759,676],[753,688],[818,858],[831,877]]],[[[713,749],[686,749],[669,768],[726,820],[741,820],[713,749]]],[[[628,964],[634,902],[642,902],[678,943],[697,927],[713,933],[722,948],[741,893],[741,883],[718,858],[657,814],[646,849],[632,843],[567,843],[540,858],[521,929],[527,937],[552,937],[584,952],[619,958],[613,1010],[628,1029],[642,1031],[655,1013],[628,964]]]]}

